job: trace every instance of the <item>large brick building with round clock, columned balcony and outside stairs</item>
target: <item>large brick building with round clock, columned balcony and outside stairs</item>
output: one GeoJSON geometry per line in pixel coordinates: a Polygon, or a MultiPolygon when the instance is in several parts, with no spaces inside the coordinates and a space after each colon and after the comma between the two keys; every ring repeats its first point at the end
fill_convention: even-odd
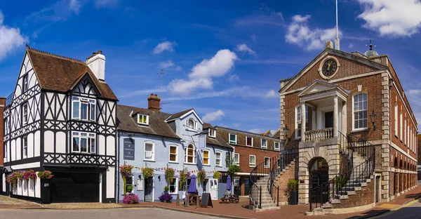
{"type": "Polygon", "coordinates": [[[338,51],[327,41],[280,83],[281,154],[299,156],[275,181],[298,179],[299,204],[370,208],[415,187],[417,121],[387,55],[371,44],[364,54],[338,51]]]}

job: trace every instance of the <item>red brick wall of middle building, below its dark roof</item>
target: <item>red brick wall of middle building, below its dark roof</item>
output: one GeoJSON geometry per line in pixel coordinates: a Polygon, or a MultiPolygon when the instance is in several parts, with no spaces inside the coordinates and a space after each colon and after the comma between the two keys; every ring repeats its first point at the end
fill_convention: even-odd
{"type": "Polygon", "coordinates": [[[272,150],[258,149],[254,147],[247,147],[247,146],[235,146],[234,151],[235,153],[238,153],[240,155],[239,166],[242,173],[250,173],[250,171],[253,170],[253,167],[249,166],[249,158],[248,158],[249,155],[256,156],[255,166],[258,166],[259,164],[263,163],[263,161],[265,161],[265,157],[272,158],[272,157],[279,156],[279,152],[275,152],[272,150]]]}

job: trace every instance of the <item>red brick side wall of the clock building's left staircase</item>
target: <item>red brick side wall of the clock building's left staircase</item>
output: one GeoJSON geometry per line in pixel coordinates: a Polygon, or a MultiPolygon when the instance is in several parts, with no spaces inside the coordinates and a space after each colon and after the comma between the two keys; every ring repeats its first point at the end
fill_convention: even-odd
{"type": "MultiPolygon", "coordinates": [[[[276,178],[275,185],[279,186],[279,203],[288,202],[289,192],[288,192],[288,181],[289,180],[298,180],[298,161],[293,161],[290,163],[285,170],[276,178]]],[[[274,190],[274,201],[277,201],[277,190],[274,190]]]]}

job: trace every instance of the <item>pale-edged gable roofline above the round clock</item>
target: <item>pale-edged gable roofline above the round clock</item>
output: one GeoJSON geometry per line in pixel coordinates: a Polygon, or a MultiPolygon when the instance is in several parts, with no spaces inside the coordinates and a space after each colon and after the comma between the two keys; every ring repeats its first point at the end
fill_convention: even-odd
{"type": "Polygon", "coordinates": [[[298,74],[296,74],[292,79],[290,79],[288,81],[288,83],[285,86],[283,86],[283,88],[281,88],[281,90],[279,90],[279,92],[283,92],[283,91],[288,90],[288,88],[290,88],[290,86],[292,86],[297,79],[302,77],[303,74],[305,74],[309,69],[311,69],[311,67],[314,64],[316,64],[316,62],[318,62],[321,58],[323,58],[323,57],[325,57],[326,55],[329,55],[329,54],[330,55],[337,55],[341,58],[345,58],[345,59],[348,59],[348,60],[353,60],[355,62],[359,62],[363,65],[368,65],[370,67],[373,67],[373,68],[379,69],[379,70],[388,68],[386,65],[379,64],[379,63],[377,63],[373,60],[369,60],[368,58],[361,57],[360,55],[355,55],[355,54],[347,53],[347,52],[344,52],[344,51],[338,51],[338,50],[335,50],[333,48],[326,48],[319,55],[317,55],[316,58],[314,58],[311,62],[309,62],[309,64],[306,65],[300,72],[298,72],[298,74]]]}

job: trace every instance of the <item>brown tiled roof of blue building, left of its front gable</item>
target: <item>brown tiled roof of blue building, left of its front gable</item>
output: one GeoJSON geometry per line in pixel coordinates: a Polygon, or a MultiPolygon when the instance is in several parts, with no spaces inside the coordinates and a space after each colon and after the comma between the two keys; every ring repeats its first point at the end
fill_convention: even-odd
{"type": "Polygon", "coordinates": [[[171,126],[165,121],[170,116],[171,114],[165,112],[155,112],[144,108],[130,107],[126,105],[118,105],[117,107],[117,119],[119,121],[118,128],[120,131],[159,135],[169,138],[180,138],[180,136],[178,136],[171,126]],[[132,116],[130,116],[131,113],[132,116]],[[138,125],[135,117],[135,114],[137,113],[149,115],[149,126],[138,125]]]}

